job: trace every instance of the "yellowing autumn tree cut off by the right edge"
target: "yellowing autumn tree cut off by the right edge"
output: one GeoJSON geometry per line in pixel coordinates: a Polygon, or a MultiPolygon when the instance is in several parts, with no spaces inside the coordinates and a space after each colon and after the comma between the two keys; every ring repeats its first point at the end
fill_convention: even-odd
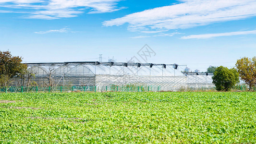
{"type": "Polygon", "coordinates": [[[241,79],[251,87],[256,86],[256,57],[244,57],[236,61],[236,68],[241,79]]]}

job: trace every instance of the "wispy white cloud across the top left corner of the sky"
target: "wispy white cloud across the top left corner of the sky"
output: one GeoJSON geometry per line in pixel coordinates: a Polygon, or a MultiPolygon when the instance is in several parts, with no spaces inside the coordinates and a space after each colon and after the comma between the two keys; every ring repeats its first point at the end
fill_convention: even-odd
{"type": "Polygon", "coordinates": [[[28,13],[24,18],[60,19],[75,17],[85,11],[88,13],[114,12],[120,0],[0,0],[2,12],[28,13]]]}

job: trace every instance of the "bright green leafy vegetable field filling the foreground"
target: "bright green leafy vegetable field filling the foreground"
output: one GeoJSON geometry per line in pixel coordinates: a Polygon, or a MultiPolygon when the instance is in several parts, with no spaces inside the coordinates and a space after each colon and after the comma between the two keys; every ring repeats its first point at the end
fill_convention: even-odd
{"type": "Polygon", "coordinates": [[[256,93],[0,94],[0,143],[256,143],[256,93]]]}

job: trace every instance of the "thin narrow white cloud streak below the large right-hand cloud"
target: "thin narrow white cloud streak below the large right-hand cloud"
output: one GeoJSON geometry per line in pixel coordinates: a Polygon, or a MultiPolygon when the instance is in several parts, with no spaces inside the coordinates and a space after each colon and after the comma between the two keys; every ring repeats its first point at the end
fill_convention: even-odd
{"type": "Polygon", "coordinates": [[[248,35],[248,34],[256,34],[256,30],[229,32],[229,33],[217,33],[217,34],[190,35],[190,36],[183,36],[183,37],[181,37],[181,39],[211,38],[211,37],[219,37],[219,36],[238,36],[238,35],[248,35]]]}

